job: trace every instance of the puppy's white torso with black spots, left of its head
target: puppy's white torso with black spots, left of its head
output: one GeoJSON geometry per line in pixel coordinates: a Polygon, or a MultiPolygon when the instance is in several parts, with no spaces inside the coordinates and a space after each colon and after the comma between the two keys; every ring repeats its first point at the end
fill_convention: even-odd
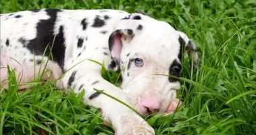
{"type": "MultiPolygon", "coordinates": [[[[116,22],[127,15],[111,9],[40,9],[1,14],[0,66],[16,68],[17,78],[26,73],[22,74],[22,82],[26,82],[34,73],[43,72],[44,66],[57,78],[86,58],[107,63],[109,35],[116,22]],[[52,61],[47,63],[50,53],[52,61]]],[[[1,80],[6,78],[7,69],[2,68],[1,80]]],[[[1,81],[1,86],[5,84],[1,81]]]]}

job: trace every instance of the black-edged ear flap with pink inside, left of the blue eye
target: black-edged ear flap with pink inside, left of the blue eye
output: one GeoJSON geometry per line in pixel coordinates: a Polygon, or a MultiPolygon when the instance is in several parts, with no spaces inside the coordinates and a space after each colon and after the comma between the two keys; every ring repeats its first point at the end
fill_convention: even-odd
{"type": "Polygon", "coordinates": [[[109,51],[112,61],[109,63],[109,70],[118,70],[120,65],[120,53],[124,43],[130,43],[134,36],[132,29],[118,29],[109,36],[109,51]]]}

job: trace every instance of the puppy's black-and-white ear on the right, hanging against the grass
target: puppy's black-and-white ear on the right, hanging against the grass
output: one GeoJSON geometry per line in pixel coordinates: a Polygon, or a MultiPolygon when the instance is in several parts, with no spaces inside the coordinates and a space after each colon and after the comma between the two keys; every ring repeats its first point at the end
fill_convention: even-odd
{"type": "Polygon", "coordinates": [[[193,61],[193,70],[196,72],[198,69],[197,47],[195,46],[195,43],[193,43],[193,41],[186,36],[186,34],[180,31],[177,32],[180,34],[180,37],[178,38],[180,46],[183,48],[183,50],[188,51],[188,57],[190,61],[193,61]]]}

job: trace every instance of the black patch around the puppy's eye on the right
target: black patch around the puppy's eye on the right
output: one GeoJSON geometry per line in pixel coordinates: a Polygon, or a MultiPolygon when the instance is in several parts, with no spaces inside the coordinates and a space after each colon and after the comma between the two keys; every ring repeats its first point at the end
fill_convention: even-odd
{"type": "MultiPolygon", "coordinates": [[[[172,64],[170,65],[170,68],[169,68],[169,75],[171,76],[180,76],[180,70],[181,70],[181,65],[180,63],[178,63],[178,61],[175,59],[172,64]]],[[[172,77],[169,77],[169,81],[170,82],[176,82],[178,81],[176,78],[172,78],[172,77]]]]}

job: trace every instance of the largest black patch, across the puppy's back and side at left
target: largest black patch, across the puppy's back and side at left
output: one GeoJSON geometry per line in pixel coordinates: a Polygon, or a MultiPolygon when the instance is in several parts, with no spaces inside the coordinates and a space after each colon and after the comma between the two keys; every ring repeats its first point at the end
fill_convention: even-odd
{"type": "Polygon", "coordinates": [[[36,25],[36,38],[28,41],[26,46],[31,53],[35,55],[49,55],[50,51],[53,55],[53,60],[57,61],[58,65],[63,70],[63,61],[65,58],[64,32],[63,26],[59,26],[59,33],[54,33],[57,13],[60,9],[45,9],[47,15],[50,16],[48,20],[40,20],[36,25]],[[55,40],[54,40],[55,38],[55,40]],[[49,45],[49,47],[47,47],[49,45]]]}

